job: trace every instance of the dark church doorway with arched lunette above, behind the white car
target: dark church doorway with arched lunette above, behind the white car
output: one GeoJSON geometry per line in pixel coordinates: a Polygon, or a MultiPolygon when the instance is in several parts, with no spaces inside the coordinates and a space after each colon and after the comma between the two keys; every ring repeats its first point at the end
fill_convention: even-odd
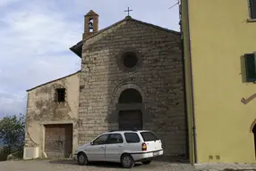
{"type": "Polygon", "coordinates": [[[142,103],[140,92],[133,88],[125,89],[118,103],[125,106],[125,110],[119,110],[119,130],[142,129],[142,112],[134,110],[134,106],[142,103]]]}

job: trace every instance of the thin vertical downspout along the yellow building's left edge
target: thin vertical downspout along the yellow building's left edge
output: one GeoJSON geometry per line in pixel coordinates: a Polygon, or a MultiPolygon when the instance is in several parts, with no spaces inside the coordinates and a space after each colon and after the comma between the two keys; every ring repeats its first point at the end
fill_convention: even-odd
{"type": "Polygon", "coordinates": [[[190,37],[190,20],[189,20],[189,1],[186,0],[187,24],[188,24],[188,41],[189,41],[189,61],[190,61],[190,77],[192,90],[192,133],[193,133],[193,147],[194,147],[194,163],[197,163],[197,142],[196,142],[196,126],[194,117],[194,98],[193,98],[193,82],[192,82],[192,52],[191,52],[191,37],[190,37]]]}

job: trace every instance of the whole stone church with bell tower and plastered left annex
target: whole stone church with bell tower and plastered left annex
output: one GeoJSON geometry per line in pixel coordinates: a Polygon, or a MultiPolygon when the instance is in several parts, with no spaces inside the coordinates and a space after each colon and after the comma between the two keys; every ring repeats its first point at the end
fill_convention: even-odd
{"type": "Polygon", "coordinates": [[[188,156],[181,34],[127,16],[98,30],[84,16],[70,50],[81,70],[28,92],[24,159],[70,157],[109,130],[148,129],[166,156],[188,156]]]}

